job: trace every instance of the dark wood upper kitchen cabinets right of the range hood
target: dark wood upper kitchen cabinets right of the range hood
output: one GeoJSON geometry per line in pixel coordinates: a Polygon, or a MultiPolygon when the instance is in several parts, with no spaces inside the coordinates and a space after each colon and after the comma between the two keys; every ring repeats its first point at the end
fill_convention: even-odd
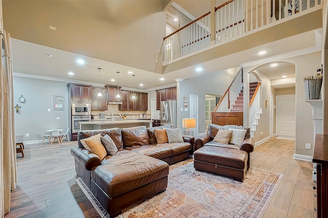
{"type": "Polygon", "coordinates": [[[133,92],[121,91],[122,104],[119,109],[130,111],[147,111],[148,110],[148,93],[134,92],[135,99],[132,99],[133,92]]]}

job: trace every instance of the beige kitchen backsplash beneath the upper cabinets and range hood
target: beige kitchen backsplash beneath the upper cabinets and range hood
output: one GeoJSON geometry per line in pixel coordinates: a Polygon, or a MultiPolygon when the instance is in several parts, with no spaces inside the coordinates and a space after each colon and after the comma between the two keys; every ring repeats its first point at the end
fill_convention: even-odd
{"type": "Polygon", "coordinates": [[[105,113],[105,118],[111,118],[112,117],[112,110],[113,109],[113,115],[114,118],[121,117],[122,114],[126,114],[128,119],[130,118],[140,118],[140,114],[147,114],[147,118],[151,118],[151,111],[120,111],[118,109],[119,105],[113,105],[109,104],[108,105],[108,110],[101,111],[101,110],[96,110],[96,111],[91,111],[91,115],[93,115],[93,119],[97,120],[100,119],[100,113],[105,113]],[[108,114],[110,110],[110,114],[108,114]]]}

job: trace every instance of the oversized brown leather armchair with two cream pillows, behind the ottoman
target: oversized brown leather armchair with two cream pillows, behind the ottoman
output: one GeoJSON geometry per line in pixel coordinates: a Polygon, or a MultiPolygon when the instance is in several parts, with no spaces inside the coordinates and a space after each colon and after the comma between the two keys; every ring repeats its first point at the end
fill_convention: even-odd
{"type": "MultiPolygon", "coordinates": [[[[250,135],[250,128],[245,126],[237,126],[237,125],[216,125],[216,124],[210,124],[207,130],[207,133],[198,136],[197,139],[195,139],[194,143],[194,150],[199,149],[202,146],[213,146],[213,147],[220,147],[220,148],[230,148],[233,152],[233,149],[237,150],[244,150],[248,154],[248,160],[247,160],[247,169],[250,167],[250,153],[254,150],[254,139],[250,135]],[[241,143],[240,146],[236,146],[234,144],[220,144],[218,142],[213,142],[214,137],[216,136],[219,129],[229,129],[229,128],[237,128],[237,129],[247,129],[247,132],[245,134],[244,140],[241,143]]],[[[224,150],[223,150],[224,151],[224,150]]]]}

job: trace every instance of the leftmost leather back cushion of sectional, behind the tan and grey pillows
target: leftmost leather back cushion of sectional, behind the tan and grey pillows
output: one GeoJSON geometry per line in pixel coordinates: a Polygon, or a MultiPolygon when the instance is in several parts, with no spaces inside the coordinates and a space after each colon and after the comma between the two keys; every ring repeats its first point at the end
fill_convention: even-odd
{"type": "Polygon", "coordinates": [[[106,134],[111,137],[111,139],[114,141],[117,149],[123,148],[123,141],[122,141],[122,135],[121,130],[119,128],[108,128],[108,129],[99,129],[99,130],[82,130],[78,132],[77,134],[77,144],[79,148],[84,148],[81,144],[81,139],[89,138],[90,136],[94,136],[99,134],[101,136],[105,136],[106,134]]]}

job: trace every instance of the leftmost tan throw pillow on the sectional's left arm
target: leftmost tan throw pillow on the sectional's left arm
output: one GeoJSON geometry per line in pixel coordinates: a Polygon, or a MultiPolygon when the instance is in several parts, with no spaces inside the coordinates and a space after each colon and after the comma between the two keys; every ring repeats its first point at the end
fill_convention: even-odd
{"type": "Polygon", "coordinates": [[[107,152],[103,144],[101,144],[100,137],[101,135],[97,134],[86,139],[81,139],[80,142],[85,148],[96,154],[102,160],[107,155],[107,152]]]}

